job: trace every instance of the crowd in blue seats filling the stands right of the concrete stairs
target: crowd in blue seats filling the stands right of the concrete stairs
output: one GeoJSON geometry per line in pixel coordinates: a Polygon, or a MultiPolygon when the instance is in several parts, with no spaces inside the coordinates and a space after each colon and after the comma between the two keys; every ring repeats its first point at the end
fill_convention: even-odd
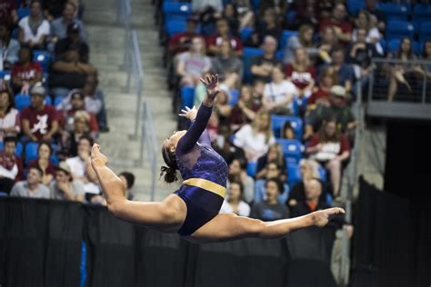
{"type": "MultiPolygon", "coordinates": [[[[431,23],[431,5],[401,2],[159,1],[155,17],[174,113],[202,102],[200,77],[220,77],[223,94],[207,129],[229,164],[221,212],[270,221],[342,203],[356,87],[386,73],[386,97],[393,101],[399,85],[431,77],[431,65],[380,70],[371,61],[431,58],[431,33],[418,33],[425,20],[415,33],[396,34],[392,26],[421,13],[431,23]]],[[[178,119],[178,129],[188,124],[178,119]]]]}

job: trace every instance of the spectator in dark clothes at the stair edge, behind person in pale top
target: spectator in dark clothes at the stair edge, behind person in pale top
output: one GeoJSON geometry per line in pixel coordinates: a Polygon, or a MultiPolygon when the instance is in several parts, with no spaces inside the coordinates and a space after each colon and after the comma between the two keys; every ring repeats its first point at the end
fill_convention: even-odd
{"type": "Polygon", "coordinates": [[[185,31],[175,34],[169,39],[168,49],[172,56],[188,51],[192,39],[199,36],[196,33],[197,24],[197,18],[189,16],[186,20],[185,31]]]}

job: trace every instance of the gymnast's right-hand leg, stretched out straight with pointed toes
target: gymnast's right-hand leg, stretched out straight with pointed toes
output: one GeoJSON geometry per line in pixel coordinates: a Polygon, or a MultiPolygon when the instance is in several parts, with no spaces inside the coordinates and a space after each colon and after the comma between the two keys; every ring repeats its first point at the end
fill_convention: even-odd
{"type": "Polygon", "coordinates": [[[307,226],[325,226],[331,214],[344,213],[339,207],[309,213],[304,216],[262,222],[257,219],[220,213],[187,239],[191,242],[226,242],[246,237],[276,239],[307,226]]]}

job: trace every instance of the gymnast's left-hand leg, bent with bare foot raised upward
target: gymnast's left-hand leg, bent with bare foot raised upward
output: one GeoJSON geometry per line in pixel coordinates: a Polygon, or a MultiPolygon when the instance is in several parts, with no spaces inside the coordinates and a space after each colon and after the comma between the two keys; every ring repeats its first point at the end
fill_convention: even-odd
{"type": "Polygon", "coordinates": [[[175,233],[185,221],[185,203],[171,194],[161,203],[132,202],[125,198],[125,186],[121,179],[106,166],[107,158],[94,144],[91,164],[105,195],[107,207],[115,217],[165,233],[175,233]]]}

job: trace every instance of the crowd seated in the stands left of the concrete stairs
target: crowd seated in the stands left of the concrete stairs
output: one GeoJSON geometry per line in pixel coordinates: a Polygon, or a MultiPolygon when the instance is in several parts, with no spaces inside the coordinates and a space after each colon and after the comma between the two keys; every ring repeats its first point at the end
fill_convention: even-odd
{"type": "MultiPolygon", "coordinates": [[[[108,132],[78,0],[0,1],[0,194],[105,204],[89,156],[108,132]]],[[[127,197],[135,183],[121,173],[127,197]]]]}

